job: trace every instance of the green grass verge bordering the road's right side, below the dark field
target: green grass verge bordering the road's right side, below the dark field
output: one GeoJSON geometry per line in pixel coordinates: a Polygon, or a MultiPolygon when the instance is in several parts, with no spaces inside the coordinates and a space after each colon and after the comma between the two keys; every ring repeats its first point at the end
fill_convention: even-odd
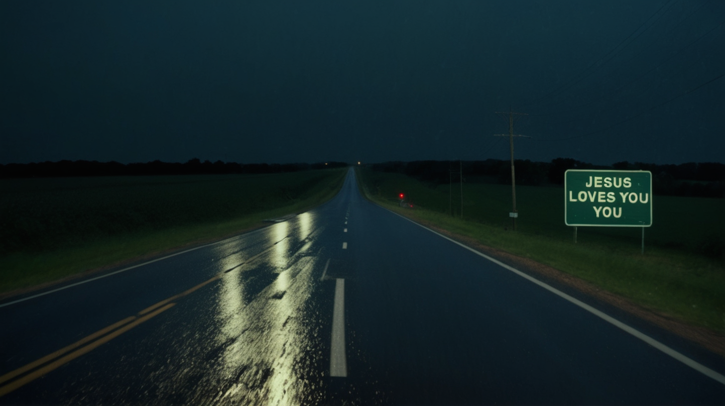
{"type": "MultiPolygon", "coordinates": [[[[445,196],[439,196],[442,191],[404,175],[361,169],[358,178],[368,199],[408,218],[548,265],[666,317],[719,335],[725,333],[725,268],[719,260],[666,247],[649,247],[642,255],[639,247],[607,236],[592,236],[589,241],[573,244],[571,236],[547,233],[541,225],[531,231],[524,228],[512,232],[501,224],[482,220],[484,215],[480,213],[476,215],[476,210],[490,207],[484,199],[477,206],[464,205],[468,217],[478,220],[461,220],[426,208],[428,199],[447,201],[447,187],[445,196]],[[403,209],[394,198],[384,197],[397,196],[400,191],[409,196],[417,194],[413,210],[403,209]]],[[[496,204],[504,197],[495,195],[488,199],[496,204]]]]}

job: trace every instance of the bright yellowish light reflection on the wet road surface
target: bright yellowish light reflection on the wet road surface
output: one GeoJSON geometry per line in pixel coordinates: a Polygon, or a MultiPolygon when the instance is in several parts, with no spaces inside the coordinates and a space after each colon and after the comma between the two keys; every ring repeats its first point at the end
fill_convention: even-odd
{"type": "MultiPolygon", "coordinates": [[[[273,225],[268,235],[274,248],[222,278],[216,341],[227,347],[218,373],[231,385],[215,402],[295,405],[320,400],[323,373],[312,365],[322,354],[319,327],[305,323],[312,271],[318,265],[318,257],[307,255],[312,241],[305,241],[315,228],[313,220],[305,213],[294,230],[287,222],[273,225]],[[247,283],[270,280],[249,297],[256,289],[247,289],[247,283]]],[[[226,260],[223,267],[231,268],[243,259],[234,255],[226,260]]]]}

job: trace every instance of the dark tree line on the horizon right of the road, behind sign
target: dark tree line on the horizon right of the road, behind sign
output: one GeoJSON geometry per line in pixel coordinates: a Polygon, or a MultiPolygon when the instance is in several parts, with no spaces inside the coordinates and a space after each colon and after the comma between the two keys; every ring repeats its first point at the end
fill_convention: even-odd
{"type": "MultiPolygon", "coordinates": [[[[367,165],[381,172],[404,173],[435,185],[458,182],[459,161],[382,162],[367,165]]],[[[669,196],[725,197],[725,165],[717,162],[688,162],[680,165],[655,165],[644,162],[616,162],[611,166],[592,165],[571,158],[556,158],[551,162],[515,160],[516,184],[539,186],[563,185],[568,169],[649,170],[653,175],[653,192],[669,196]]],[[[463,162],[464,182],[511,183],[511,164],[508,160],[486,159],[463,162]]]]}

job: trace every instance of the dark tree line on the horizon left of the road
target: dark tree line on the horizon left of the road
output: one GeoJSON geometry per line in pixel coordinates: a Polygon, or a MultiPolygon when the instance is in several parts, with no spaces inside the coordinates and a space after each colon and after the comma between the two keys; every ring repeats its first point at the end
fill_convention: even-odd
{"type": "Polygon", "coordinates": [[[239,164],[237,162],[210,162],[194,158],[180,162],[120,162],[69,161],[33,162],[29,164],[0,164],[0,178],[49,178],[63,176],[135,176],[135,175],[211,175],[228,173],[283,173],[299,170],[346,167],[345,162],[317,162],[293,164],[239,164]]]}

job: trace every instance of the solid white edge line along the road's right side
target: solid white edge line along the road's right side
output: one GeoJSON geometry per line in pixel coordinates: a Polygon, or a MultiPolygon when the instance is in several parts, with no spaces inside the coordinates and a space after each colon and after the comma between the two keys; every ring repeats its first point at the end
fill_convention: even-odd
{"type": "Polygon", "coordinates": [[[636,329],[634,329],[634,328],[632,328],[630,326],[627,326],[626,324],[622,323],[621,321],[617,320],[616,318],[613,318],[610,315],[607,315],[606,313],[601,312],[600,310],[597,310],[594,307],[589,306],[589,305],[587,305],[584,302],[581,302],[579,299],[576,299],[574,297],[571,297],[568,294],[564,293],[563,291],[560,291],[559,289],[556,289],[555,287],[550,286],[547,283],[544,283],[542,281],[539,281],[537,278],[534,278],[533,276],[526,275],[526,273],[523,273],[523,272],[521,272],[520,270],[518,270],[516,268],[513,268],[513,267],[511,267],[509,265],[506,265],[505,263],[500,262],[499,260],[496,260],[496,259],[494,259],[492,257],[489,257],[488,255],[486,255],[486,254],[484,254],[482,252],[476,251],[476,249],[473,249],[471,247],[468,247],[465,244],[461,244],[460,242],[455,241],[454,239],[450,239],[449,237],[444,236],[443,234],[441,234],[441,233],[439,233],[437,231],[431,230],[430,228],[426,227],[425,225],[421,225],[421,224],[415,223],[415,221],[410,220],[410,218],[407,218],[405,216],[399,215],[398,213],[396,213],[396,212],[394,212],[392,210],[389,210],[386,207],[382,207],[382,206],[378,206],[378,207],[381,207],[381,208],[383,208],[385,210],[388,210],[389,212],[392,212],[394,215],[397,215],[397,216],[399,216],[401,218],[404,218],[405,220],[410,221],[410,223],[413,223],[413,224],[418,225],[418,226],[420,226],[422,228],[425,228],[426,230],[430,231],[431,233],[434,233],[434,234],[436,234],[438,236],[441,236],[444,239],[447,239],[448,241],[451,241],[452,243],[458,244],[461,247],[463,247],[465,249],[468,249],[468,251],[471,251],[474,254],[478,254],[481,257],[486,258],[486,260],[489,260],[491,262],[494,262],[494,264],[500,265],[503,268],[506,268],[506,269],[510,270],[511,272],[517,274],[518,276],[521,276],[523,278],[528,279],[531,282],[536,283],[537,285],[541,286],[542,288],[547,289],[547,291],[550,291],[553,294],[557,294],[559,297],[562,297],[563,299],[568,300],[569,302],[573,303],[574,305],[577,305],[577,306],[581,307],[582,309],[587,310],[587,312],[590,312],[593,315],[601,318],[602,320],[605,320],[608,323],[611,323],[614,326],[616,326],[618,328],[621,328],[622,330],[626,331],[627,333],[631,334],[632,336],[635,336],[638,339],[640,339],[642,341],[645,341],[647,344],[650,344],[652,347],[655,347],[656,349],[659,349],[661,352],[664,352],[666,355],[669,355],[670,357],[673,357],[675,360],[678,360],[679,362],[683,363],[684,365],[687,365],[690,368],[692,368],[694,370],[697,370],[697,372],[702,373],[703,375],[708,376],[710,378],[713,378],[714,380],[716,380],[716,381],[720,382],[721,384],[724,384],[725,385],[725,376],[723,376],[721,373],[718,373],[716,370],[712,370],[712,369],[706,367],[705,365],[702,365],[702,364],[698,363],[697,361],[692,360],[691,358],[689,358],[689,357],[687,357],[685,355],[682,355],[681,353],[675,351],[674,349],[671,349],[670,347],[667,347],[665,344],[660,343],[660,341],[657,341],[657,340],[653,339],[652,337],[647,336],[647,334],[644,334],[644,333],[642,333],[642,332],[640,332],[640,331],[638,331],[638,330],[636,330],[636,329]]]}

